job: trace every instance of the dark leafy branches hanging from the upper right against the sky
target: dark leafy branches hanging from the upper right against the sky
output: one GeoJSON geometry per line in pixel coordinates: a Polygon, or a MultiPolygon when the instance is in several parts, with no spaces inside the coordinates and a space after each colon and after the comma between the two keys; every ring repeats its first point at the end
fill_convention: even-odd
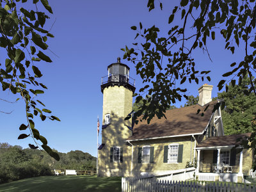
{"type": "MultiPolygon", "coordinates": [[[[155,3],[154,0],[148,0],[149,11],[155,8],[155,3]]],[[[163,9],[161,2],[159,7],[163,9]]],[[[166,35],[163,36],[157,26],[143,28],[141,22],[138,27],[132,26],[131,29],[136,31],[136,42],[133,47],[125,46],[122,50],[124,59],[136,65],[136,72],[145,84],[139,95],[134,95],[136,103],[143,99],[142,94],[150,95],[150,99],[143,100],[143,106],[134,116],[138,117],[145,111],[143,119],[147,119],[148,123],[155,115],[161,118],[176,100],[182,97],[188,99],[187,90],[181,88],[181,84],[198,84],[200,79],[211,81],[209,70],[196,69],[193,52],[196,49],[207,52],[207,42],[215,40],[216,33],[220,33],[226,42],[225,47],[220,49],[235,54],[239,45],[244,47],[244,57],[240,61],[227,63],[230,71],[223,74],[225,78],[218,83],[219,90],[225,83],[236,84],[236,79],[241,84],[247,73],[251,84],[248,94],[254,92],[256,95],[256,81],[252,79],[256,69],[255,16],[255,0],[182,0],[173,7],[170,17],[166,18],[166,25],[170,29],[166,35]]]]}

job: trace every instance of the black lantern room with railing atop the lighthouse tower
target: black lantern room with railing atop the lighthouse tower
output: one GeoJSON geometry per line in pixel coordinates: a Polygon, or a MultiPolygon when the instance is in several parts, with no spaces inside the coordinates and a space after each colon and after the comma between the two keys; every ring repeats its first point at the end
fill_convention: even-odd
{"type": "Polygon", "coordinates": [[[117,63],[112,63],[108,66],[108,76],[102,77],[101,92],[108,86],[122,85],[126,88],[135,91],[135,80],[129,76],[130,68],[120,63],[120,58],[117,58],[117,63]]]}

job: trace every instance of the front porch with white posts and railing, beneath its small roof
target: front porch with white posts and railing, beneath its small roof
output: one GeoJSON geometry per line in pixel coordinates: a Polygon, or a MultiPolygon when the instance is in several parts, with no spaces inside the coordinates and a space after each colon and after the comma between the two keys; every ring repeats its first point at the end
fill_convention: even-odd
{"type": "Polygon", "coordinates": [[[198,180],[242,182],[243,148],[233,146],[198,147],[196,177],[198,180]]]}

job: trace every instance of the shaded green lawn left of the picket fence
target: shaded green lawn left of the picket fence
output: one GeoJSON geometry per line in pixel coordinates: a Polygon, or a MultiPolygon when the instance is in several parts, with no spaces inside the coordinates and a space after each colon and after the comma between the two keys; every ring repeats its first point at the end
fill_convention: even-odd
{"type": "Polygon", "coordinates": [[[0,184],[0,191],[121,191],[121,177],[44,176],[0,184]]]}

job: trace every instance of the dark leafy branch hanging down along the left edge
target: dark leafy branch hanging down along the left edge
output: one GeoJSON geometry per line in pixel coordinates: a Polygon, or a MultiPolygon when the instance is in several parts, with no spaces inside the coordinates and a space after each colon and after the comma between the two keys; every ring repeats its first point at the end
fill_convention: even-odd
{"type": "MultiPolygon", "coordinates": [[[[36,146],[29,144],[30,148],[35,149],[41,145],[50,156],[58,160],[60,157],[47,145],[47,140],[40,135],[33,121],[35,116],[40,116],[42,121],[46,118],[60,121],[36,98],[47,89],[47,86],[38,81],[43,76],[38,68],[38,61],[52,62],[46,51],[49,49],[48,38],[54,37],[44,28],[45,21],[50,17],[38,10],[38,2],[0,0],[0,47],[6,52],[5,60],[0,60],[0,85],[3,92],[10,90],[13,94],[19,95],[17,100],[21,98],[26,104],[27,122],[20,125],[22,134],[18,139],[33,138],[36,146]],[[34,10],[25,8],[33,7],[33,4],[34,10]]],[[[52,13],[47,0],[40,0],[40,3],[47,12],[52,13]]]]}

